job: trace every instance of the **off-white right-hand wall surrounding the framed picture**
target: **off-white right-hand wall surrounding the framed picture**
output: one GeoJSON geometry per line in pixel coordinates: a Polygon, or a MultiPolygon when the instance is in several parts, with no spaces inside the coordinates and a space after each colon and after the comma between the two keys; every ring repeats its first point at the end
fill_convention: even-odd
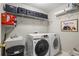
{"type": "Polygon", "coordinates": [[[67,13],[56,17],[55,12],[67,8],[67,4],[56,7],[49,12],[49,32],[58,33],[61,39],[62,49],[70,52],[74,47],[79,47],[79,12],[67,13]],[[61,32],[61,21],[78,19],[78,32],[61,32]]]}

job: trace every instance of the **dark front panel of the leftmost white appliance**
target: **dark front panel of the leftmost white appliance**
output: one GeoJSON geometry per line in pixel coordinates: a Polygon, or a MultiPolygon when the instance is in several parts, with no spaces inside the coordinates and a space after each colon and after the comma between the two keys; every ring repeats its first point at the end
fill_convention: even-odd
{"type": "Polygon", "coordinates": [[[24,56],[24,45],[16,45],[6,49],[7,56],[24,56]]]}

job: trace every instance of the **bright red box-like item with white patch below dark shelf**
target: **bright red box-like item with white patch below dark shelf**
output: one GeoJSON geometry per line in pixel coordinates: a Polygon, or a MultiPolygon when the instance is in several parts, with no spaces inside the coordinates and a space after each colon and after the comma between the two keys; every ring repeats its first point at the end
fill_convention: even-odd
{"type": "Polygon", "coordinates": [[[11,13],[1,13],[2,25],[15,25],[16,16],[11,13]]]}

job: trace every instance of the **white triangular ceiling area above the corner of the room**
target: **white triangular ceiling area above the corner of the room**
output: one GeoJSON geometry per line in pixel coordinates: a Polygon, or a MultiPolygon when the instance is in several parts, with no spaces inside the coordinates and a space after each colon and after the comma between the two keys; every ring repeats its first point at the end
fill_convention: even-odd
{"type": "Polygon", "coordinates": [[[48,13],[51,10],[63,5],[64,3],[27,3],[27,5],[39,8],[44,12],[48,13]]]}

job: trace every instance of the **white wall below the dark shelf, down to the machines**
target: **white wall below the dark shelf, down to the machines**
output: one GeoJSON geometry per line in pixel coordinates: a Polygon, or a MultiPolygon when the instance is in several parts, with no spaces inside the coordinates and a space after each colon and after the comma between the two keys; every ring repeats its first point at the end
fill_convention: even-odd
{"type": "Polygon", "coordinates": [[[46,21],[40,21],[29,18],[17,17],[17,27],[11,32],[10,35],[27,35],[34,32],[48,32],[48,23],[46,21]]]}

